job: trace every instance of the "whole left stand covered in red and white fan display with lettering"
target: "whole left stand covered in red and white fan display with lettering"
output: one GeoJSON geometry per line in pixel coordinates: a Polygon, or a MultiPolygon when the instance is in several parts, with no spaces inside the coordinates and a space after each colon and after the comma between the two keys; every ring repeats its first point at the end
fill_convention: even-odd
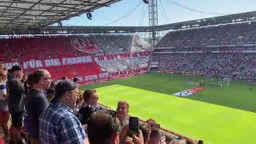
{"type": "Polygon", "coordinates": [[[0,48],[0,61],[9,63],[7,68],[13,62],[26,72],[46,67],[55,79],[138,70],[147,67],[152,54],[150,46],[133,35],[2,38],[0,48]]]}

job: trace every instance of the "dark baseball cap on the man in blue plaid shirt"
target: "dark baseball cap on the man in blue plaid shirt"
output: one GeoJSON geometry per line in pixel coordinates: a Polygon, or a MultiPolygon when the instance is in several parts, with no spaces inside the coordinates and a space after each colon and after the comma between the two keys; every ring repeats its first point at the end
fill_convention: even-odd
{"type": "Polygon", "coordinates": [[[62,96],[62,94],[65,94],[68,91],[76,89],[78,86],[75,82],[72,82],[69,79],[62,79],[60,82],[58,82],[56,88],[55,88],[55,95],[54,98],[51,100],[51,102],[57,102],[58,98],[62,96]]]}

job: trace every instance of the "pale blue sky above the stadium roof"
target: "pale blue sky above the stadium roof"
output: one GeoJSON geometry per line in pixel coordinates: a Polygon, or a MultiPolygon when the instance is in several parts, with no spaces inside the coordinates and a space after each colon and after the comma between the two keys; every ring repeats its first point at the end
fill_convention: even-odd
{"type": "MultiPolygon", "coordinates": [[[[256,0],[158,0],[158,25],[254,10],[256,10],[256,0]],[[186,10],[174,5],[172,1],[194,10],[215,14],[186,10]]],[[[93,20],[87,19],[86,14],[82,14],[63,21],[62,24],[63,26],[148,26],[148,6],[142,0],[122,0],[109,7],[94,10],[92,14],[93,20]],[[131,10],[133,11],[130,12],[131,10]],[[116,21],[117,19],[120,20],[116,21]]]]}

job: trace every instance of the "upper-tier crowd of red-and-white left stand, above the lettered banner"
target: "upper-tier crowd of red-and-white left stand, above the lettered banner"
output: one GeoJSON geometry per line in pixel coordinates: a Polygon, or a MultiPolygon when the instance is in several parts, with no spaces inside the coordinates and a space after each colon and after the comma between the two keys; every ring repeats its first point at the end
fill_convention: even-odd
{"type": "Polygon", "coordinates": [[[69,58],[88,55],[74,48],[74,45],[90,49],[98,47],[92,56],[104,54],[120,54],[150,50],[142,38],[134,35],[90,35],[90,36],[52,36],[38,38],[6,38],[0,39],[2,54],[0,60],[29,61],[30,59],[69,58]],[[80,43],[79,43],[80,42],[80,43]],[[36,57],[35,57],[36,56],[36,57]]]}

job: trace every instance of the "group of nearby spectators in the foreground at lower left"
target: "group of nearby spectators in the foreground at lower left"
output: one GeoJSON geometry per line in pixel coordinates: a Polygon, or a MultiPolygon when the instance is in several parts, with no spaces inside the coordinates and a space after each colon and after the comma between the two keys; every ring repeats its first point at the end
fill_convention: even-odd
{"type": "MultiPolygon", "coordinates": [[[[0,70],[0,78],[4,85],[7,78],[4,68],[0,70]]],[[[13,66],[8,74],[6,89],[2,90],[5,93],[1,91],[4,95],[0,96],[9,107],[9,111],[5,111],[12,118],[10,137],[8,127],[5,134],[6,142],[23,143],[25,138],[26,143],[31,144],[198,143],[162,133],[160,125],[153,119],[139,122],[138,134],[130,135],[128,102],[121,100],[115,111],[110,110],[98,104],[100,95],[97,90],[85,90],[82,94],[76,82],[65,77],[53,82],[47,70],[34,70],[26,78],[21,67],[13,66]],[[23,123],[24,117],[26,122],[23,123]]]]}

